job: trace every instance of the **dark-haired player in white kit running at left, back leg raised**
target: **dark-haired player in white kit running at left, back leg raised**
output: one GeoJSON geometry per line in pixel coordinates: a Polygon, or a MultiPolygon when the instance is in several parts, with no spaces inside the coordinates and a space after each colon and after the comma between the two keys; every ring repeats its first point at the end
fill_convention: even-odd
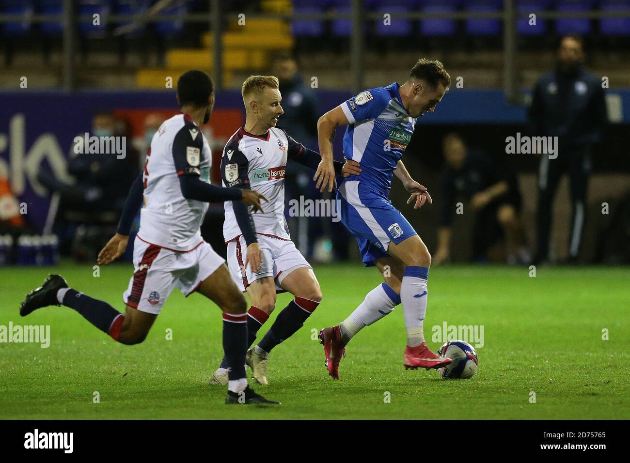
{"type": "MultiPolygon", "coordinates": [[[[266,198],[253,190],[210,185],[212,157],[200,127],[210,119],[214,89],[202,71],[185,72],[177,84],[181,113],[166,120],[153,136],[147,161],[129,193],[118,233],[98,255],[107,265],[127,248],[132,221],[142,204],[140,230],[134,242],[134,276],[123,294],[121,314],[110,304],[77,292],[60,275],[51,275],[22,303],[20,314],[63,304],[85,317],[114,340],[133,345],[149,333],[169,294],[178,287],[214,301],[223,312],[223,348],[229,363],[226,403],[275,403],[249,389],[245,374],[248,348],[246,300],[224,265],[203,241],[200,226],[209,202],[238,202],[262,211],[266,198]]],[[[245,264],[260,268],[260,251],[245,264]]]]}

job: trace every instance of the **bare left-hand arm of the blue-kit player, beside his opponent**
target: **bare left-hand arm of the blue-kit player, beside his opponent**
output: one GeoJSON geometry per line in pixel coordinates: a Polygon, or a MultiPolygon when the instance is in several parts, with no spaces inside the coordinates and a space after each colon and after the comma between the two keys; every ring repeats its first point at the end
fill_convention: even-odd
{"type": "MultiPolygon", "coordinates": [[[[345,103],[343,104],[345,105],[345,103]]],[[[317,182],[315,188],[319,188],[320,192],[323,192],[326,187],[328,187],[328,191],[333,191],[333,187],[337,188],[335,166],[333,164],[333,140],[335,140],[337,127],[348,125],[348,123],[350,122],[345,113],[343,113],[341,105],[328,111],[318,120],[317,132],[321,161],[313,180],[317,182]]]]}

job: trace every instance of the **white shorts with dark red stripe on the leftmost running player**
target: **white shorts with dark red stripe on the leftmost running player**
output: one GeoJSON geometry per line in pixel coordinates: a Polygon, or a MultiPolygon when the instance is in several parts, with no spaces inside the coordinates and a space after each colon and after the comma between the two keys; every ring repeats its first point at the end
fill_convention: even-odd
{"type": "Polygon", "coordinates": [[[190,251],[171,251],[135,237],[134,276],[122,299],[141,312],[159,314],[178,287],[188,297],[225,260],[203,241],[190,251]]]}

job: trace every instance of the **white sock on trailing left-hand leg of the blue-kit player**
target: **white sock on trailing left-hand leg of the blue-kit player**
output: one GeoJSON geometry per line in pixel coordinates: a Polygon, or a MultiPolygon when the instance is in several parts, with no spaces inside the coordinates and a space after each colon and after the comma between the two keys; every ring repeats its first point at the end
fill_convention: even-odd
{"type": "Polygon", "coordinates": [[[400,296],[386,283],[381,283],[366,296],[350,316],[339,324],[341,341],[347,344],[359,331],[379,321],[400,304],[400,296]]]}

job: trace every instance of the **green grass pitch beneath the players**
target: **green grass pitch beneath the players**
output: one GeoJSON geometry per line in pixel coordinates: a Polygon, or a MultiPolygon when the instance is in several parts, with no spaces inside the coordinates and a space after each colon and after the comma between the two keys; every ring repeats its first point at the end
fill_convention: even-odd
{"type": "MultiPolygon", "coordinates": [[[[277,408],[225,406],[226,389],[208,385],[222,357],[221,316],[201,295],[185,299],[176,289],[147,340],[136,346],[115,343],[66,307],[40,309],[25,318],[18,314],[23,295],[49,272],[122,310],[131,268],[103,267],[98,278],[91,265],[73,263],[0,270],[0,325],[50,325],[51,338],[49,348],[0,343],[0,418],[630,418],[627,268],[541,267],[535,278],[527,268],[433,268],[428,344],[437,350],[442,340],[432,341],[432,327],[444,321],[483,325],[484,346],[473,379],[443,380],[434,370],[404,370],[398,306],[352,340],[341,361],[341,380],[333,381],[312,333],[345,319],[380,275],[358,262],[316,266],[323,303],[297,334],[273,350],[270,386],[255,387],[282,401],[277,408]],[[167,329],[172,340],[166,339],[167,329]],[[608,340],[602,339],[603,329],[608,340]],[[100,403],[94,403],[94,392],[100,403]]],[[[289,300],[290,295],[279,295],[275,313],[289,300]]]]}

